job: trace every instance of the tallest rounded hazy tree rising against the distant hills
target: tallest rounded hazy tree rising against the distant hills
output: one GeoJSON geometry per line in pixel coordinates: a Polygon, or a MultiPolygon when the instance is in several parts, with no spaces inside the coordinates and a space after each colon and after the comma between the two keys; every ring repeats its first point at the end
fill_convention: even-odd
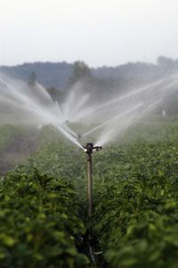
{"type": "Polygon", "coordinates": [[[69,85],[75,84],[80,79],[91,79],[92,73],[90,68],[84,61],[75,61],[71,77],[69,77],[69,85]]]}

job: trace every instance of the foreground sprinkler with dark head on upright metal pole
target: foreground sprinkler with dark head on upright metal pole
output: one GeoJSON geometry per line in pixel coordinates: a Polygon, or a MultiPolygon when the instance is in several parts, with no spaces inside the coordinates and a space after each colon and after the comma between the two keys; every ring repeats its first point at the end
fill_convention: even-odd
{"type": "Polygon", "coordinates": [[[88,178],[88,216],[93,212],[93,179],[92,179],[92,153],[101,150],[101,146],[93,146],[92,142],[86,143],[84,151],[87,154],[87,178],[88,178]]]}

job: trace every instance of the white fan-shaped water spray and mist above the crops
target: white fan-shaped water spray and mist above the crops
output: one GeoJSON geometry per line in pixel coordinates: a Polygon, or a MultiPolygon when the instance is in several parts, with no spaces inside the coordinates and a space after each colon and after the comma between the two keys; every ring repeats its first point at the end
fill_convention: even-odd
{"type": "Polygon", "coordinates": [[[53,126],[83,149],[87,139],[97,145],[113,142],[128,127],[167,105],[178,90],[178,75],[112,94],[95,93],[85,79],[69,88],[63,102],[54,101],[42,85],[33,86],[1,74],[0,124],[53,126]]]}

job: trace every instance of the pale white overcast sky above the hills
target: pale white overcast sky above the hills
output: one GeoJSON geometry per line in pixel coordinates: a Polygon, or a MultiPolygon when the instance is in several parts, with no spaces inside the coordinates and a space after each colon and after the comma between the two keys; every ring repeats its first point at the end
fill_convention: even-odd
{"type": "Polygon", "coordinates": [[[0,65],[178,58],[177,0],[0,0],[0,65]]]}

